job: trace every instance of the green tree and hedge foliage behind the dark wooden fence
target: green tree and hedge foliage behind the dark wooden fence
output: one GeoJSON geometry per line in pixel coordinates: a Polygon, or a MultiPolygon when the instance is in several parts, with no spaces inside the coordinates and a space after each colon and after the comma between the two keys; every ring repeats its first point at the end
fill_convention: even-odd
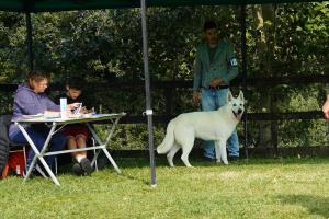
{"type": "MultiPolygon", "coordinates": [[[[265,23],[273,45],[273,76],[328,73],[328,2],[277,4],[274,22],[265,23]]],[[[261,76],[262,62],[257,56],[258,31],[251,7],[247,8],[248,76],[261,76]]],[[[238,7],[185,7],[148,9],[150,73],[152,80],[191,80],[195,47],[202,42],[205,20],[218,22],[220,36],[229,38],[240,50],[240,9],[238,7]]],[[[54,82],[82,74],[89,83],[121,82],[133,87],[95,88],[89,94],[103,112],[127,112],[141,115],[145,111],[141,56],[140,12],[132,10],[72,11],[32,14],[35,66],[53,73],[54,82]]],[[[18,83],[27,72],[25,48],[25,16],[0,12],[0,82],[18,83]]],[[[192,87],[192,85],[191,85],[192,87]]],[[[271,89],[276,96],[277,112],[319,110],[319,91],[324,84],[279,85],[271,89]]],[[[195,111],[191,90],[163,90],[152,87],[156,115],[166,113],[172,99],[172,114],[195,111]]],[[[248,111],[259,108],[260,89],[248,90],[248,111]]],[[[237,92],[237,89],[234,89],[237,92]]],[[[1,92],[2,112],[8,112],[12,93],[1,92]]],[[[258,129],[249,124],[250,139],[257,145],[258,129]]],[[[281,146],[328,145],[324,120],[282,122],[281,146]],[[303,135],[303,138],[299,136],[303,135]]],[[[157,124],[156,141],[162,139],[166,124],[157,124]]],[[[127,125],[116,132],[118,148],[144,148],[147,130],[144,125],[127,125]]]]}

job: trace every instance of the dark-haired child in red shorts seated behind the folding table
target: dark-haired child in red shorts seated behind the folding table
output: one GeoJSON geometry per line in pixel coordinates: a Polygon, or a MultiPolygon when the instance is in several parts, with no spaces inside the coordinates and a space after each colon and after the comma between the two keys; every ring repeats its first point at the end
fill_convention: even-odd
{"type": "MultiPolygon", "coordinates": [[[[84,81],[81,78],[70,78],[66,82],[66,92],[56,97],[56,101],[59,102],[61,97],[67,99],[67,103],[82,103],[86,104],[86,100],[82,97],[84,81]]],[[[88,113],[83,107],[82,113],[88,113]]],[[[67,147],[68,149],[86,148],[86,141],[88,138],[88,127],[82,124],[72,124],[67,125],[63,128],[64,135],[67,137],[67,147]]],[[[75,164],[73,173],[76,175],[90,175],[92,172],[91,162],[87,158],[87,151],[72,152],[71,153],[75,164]]]]}

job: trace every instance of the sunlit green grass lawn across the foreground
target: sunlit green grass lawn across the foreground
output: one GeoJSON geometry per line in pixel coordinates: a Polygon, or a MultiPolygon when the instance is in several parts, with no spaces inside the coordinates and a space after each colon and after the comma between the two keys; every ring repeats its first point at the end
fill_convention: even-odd
{"type": "Polygon", "coordinates": [[[251,159],[170,169],[157,160],[117,160],[91,177],[59,175],[60,187],[34,177],[0,181],[0,218],[329,218],[329,159],[251,159]]]}

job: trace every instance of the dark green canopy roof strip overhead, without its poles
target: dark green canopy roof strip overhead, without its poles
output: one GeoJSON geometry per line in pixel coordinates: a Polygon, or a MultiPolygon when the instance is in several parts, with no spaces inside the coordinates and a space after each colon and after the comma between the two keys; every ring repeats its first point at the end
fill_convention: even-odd
{"type": "MultiPolygon", "coordinates": [[[[309,0],[147,0],[148,7],[265,4],[309,2],[309,0]]],[[[0,0],[0,9],[16,12],[50,12],[91,9],[139,8],[139,0],[0,0]]]]}

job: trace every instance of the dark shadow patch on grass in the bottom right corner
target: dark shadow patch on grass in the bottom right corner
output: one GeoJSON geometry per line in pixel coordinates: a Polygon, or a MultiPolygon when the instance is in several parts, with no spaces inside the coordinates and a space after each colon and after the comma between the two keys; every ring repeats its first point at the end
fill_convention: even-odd
{"type": "Polygon", "coordinates": [[[329,197],[311,195],[280,195],[277,197],[283,205],[299,205],[307,208],[311,215],[329,218],[329,197]]]}

